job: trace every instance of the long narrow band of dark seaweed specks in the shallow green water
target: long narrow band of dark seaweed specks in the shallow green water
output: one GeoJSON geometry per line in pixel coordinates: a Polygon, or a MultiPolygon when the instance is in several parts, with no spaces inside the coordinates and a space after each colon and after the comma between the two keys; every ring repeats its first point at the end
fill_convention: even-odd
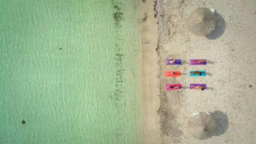
{"type": "Polygon", "coordinates": [[[122,27],[122,20],[124,19],[124,12],[122,9],[122,6],[124,4],[122,4],[121,2],[119,2],[119,0],[111,0],[113,8],[115,10],[115,12],[113,13],[113,18],[115,21],[115,28],[116,28],[116,33],[115,33],[115,40],[116,40],[116,44],[115,44],[115,61],[116,61],[116,90],[114,91],[113,94],[110,94],[110,98],[113,100],[114,103],[114,107],[112,108],[113,110],[115,110],[115,116],[116,118],[118,118],[118,121],[116,122],[116,127],[115,127],[115,137],[116,139],[122,139],[122,135],[124,135],[125,133],[127,133],[125,131],[125,127],[124,127],[124,123],[126,122],[126,113],[125,113],[125,105],[126,102],[124,100],[126,100],[127,98],[125,98],[124,96],[126,96],[126,92],[125,91],[125,87],[124,87],[124,72],[125,72],[125,68],[124,68],[124,64],[123,64],[123,58],[125,57],[124,55],[124,39],[122,38],[123,36],[121,35],[121,27],[122,27]]]}

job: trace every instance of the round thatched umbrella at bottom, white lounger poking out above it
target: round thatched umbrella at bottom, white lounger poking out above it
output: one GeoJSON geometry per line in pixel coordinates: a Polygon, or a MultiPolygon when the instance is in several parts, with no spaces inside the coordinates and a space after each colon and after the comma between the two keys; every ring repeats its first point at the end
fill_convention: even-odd
{"type": "Polygon", "coordinates": [[[216,132],[215,119],[206,113],[192,116],[188,120],[188,132],[199,140],[211,138],[216,132]]]}

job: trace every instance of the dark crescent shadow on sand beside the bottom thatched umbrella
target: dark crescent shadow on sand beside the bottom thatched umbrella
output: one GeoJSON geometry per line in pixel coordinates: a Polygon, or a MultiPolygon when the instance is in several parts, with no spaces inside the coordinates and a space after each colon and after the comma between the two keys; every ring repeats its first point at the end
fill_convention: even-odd
{"type": "Polygon", "coordinates": [[[214,111],[213,113],[211,113],[211,115],[216,121],[217,131],[214,136],[220,136],[224,134],[228,129],[228,116],[219,110],[214,111]]]}

